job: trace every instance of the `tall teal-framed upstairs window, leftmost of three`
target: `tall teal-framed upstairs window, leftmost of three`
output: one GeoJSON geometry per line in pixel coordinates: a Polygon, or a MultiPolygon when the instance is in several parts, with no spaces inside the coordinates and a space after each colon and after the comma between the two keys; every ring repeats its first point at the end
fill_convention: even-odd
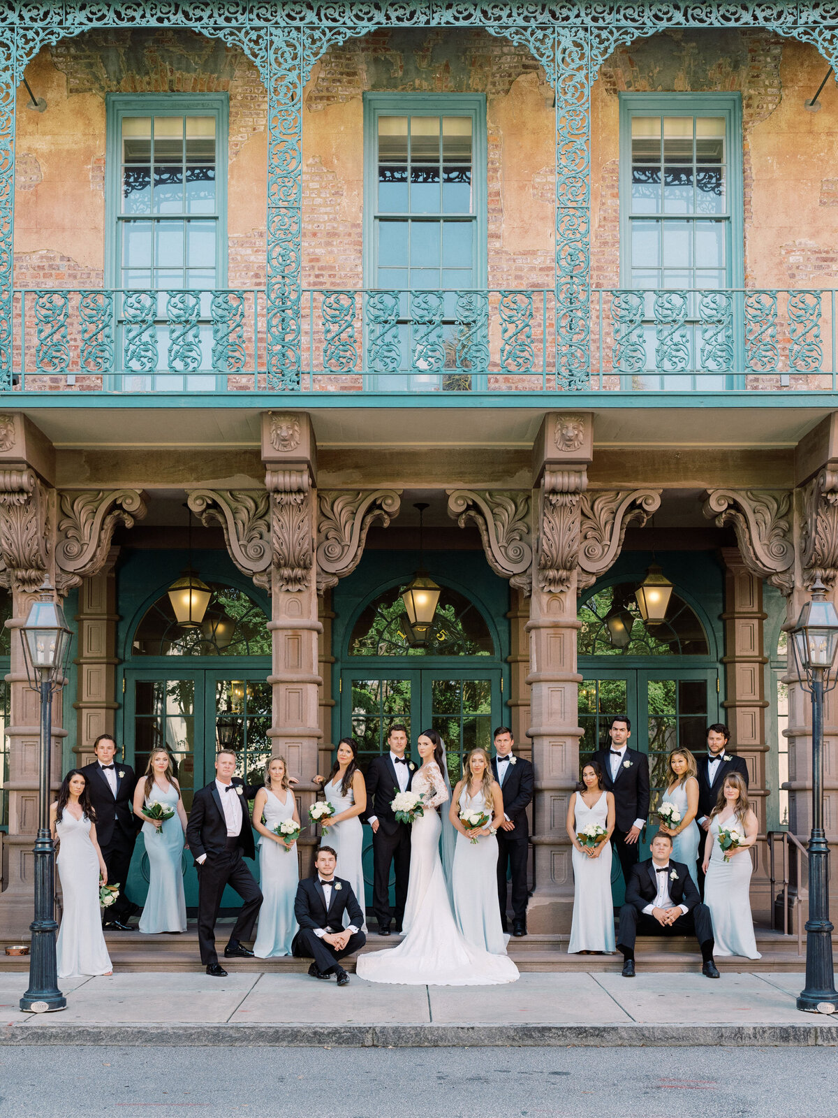
{"type": "Polygon", "coordinates": [[[198,370],[213,368],[208,293],[227,283],[227,97],[115,94],[108,114],[125,387],[211,389],[198,370]]]}

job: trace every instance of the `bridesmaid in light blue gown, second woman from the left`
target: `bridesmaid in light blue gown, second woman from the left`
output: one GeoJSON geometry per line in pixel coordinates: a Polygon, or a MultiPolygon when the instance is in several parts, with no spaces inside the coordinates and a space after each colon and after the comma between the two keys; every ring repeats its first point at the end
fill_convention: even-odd
{"type": "Polygon", "coordinates": [[[140,931],[145,935],[187,930],[187,900],[183,894],[181,863],[187,831],[187,813],[174,779],[172,758],[165,749],[154,749],[145,776],[134,789],[134,815],[144,819],[143,839],[149,855],[149,896],[145,898],[140,931]],[[144,808],[153,803],[174,808],[174,815],[161,823],[151,819],[144,808]]]}

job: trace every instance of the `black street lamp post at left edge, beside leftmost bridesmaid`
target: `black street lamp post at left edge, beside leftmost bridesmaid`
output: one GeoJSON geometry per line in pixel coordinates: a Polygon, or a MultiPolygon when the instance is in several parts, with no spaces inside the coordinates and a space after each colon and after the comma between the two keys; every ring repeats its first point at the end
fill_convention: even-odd
{"type": "Polygon", "coordinates": [[[73,634],[45,578],[20,628],[29,686],[40,697],[40,775],[38,837],[35,842],[35,919],[29,926],[29,988],[20,999],[25,1013],[63,1010],[67,999],[58,989],[55,920],[55,845],[49,831],[49,777],[53,751],[53,693],[64,686],[73,634]]]}

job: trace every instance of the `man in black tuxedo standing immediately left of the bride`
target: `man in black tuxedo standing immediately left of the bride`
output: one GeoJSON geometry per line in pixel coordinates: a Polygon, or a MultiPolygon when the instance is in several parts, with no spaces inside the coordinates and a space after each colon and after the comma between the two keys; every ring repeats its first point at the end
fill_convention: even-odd
{"type": "Polygon", "coordinates": [[[401,931],[410,874],[410,826],[398,823],[390,806],[399,792],[407,792],[416,766],[404,756],[407,727],[397,723],[387,738],[389,752],[375,757],[366,769],[366,819],[372,827],[372,911],[379,936],[390,935],[390,866],[396,866],[396,932],[401,931]]]}

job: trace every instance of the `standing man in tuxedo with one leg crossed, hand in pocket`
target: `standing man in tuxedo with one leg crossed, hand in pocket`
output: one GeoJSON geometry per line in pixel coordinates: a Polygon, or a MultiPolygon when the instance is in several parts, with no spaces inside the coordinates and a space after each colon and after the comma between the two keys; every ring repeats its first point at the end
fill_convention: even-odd
{"type": "Polygon", "coordinates": [[[229,884],[242,900],[236,925],[230,934],[225,958],[253,958],[242,939],[254,938],[254,926],[261,904],[261,890],[245,865],[254,858],[254,832],[247,800],[256,795],[247,788],[236,771],[236,754],[220,749],[216,754],[216,779],[199,789],[192,800],[187,826],[187,842],[198,870],[198,942],[201,963],[207,974],[225,978],[216,951],[216,920],[221,897],[229,884]]]}

